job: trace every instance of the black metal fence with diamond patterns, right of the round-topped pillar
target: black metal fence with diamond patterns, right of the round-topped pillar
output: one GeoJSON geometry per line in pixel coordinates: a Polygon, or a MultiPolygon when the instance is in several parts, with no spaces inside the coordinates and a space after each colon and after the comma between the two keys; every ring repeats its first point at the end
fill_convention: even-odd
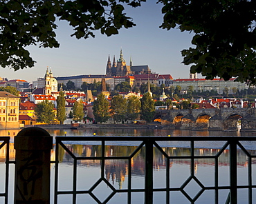
{"type": "MultiPolygon", "coordinates": [[[[226,199],[226,203],[237,203],[237,190],[247,189],[248,190],[248,202],[249,204],[253,203],[253,190],[256,189],[256,185],[253,185],[253,170],[252,170],[252,159],[256,158],[256,155],[250,154],[250,151],[246,150],[242,141],[256,141],[256,138],[253,137],[110,137],[110,136],[56,136],[56,145],[55,145],[55,204],[57,204],[58,196],[62,194],[71,194],[73,195],[73,204],[77,203],[78,194],[89,194],[96,203],[108,203],[111,198],[117,193],[126,193],[127,201],[126,203],[131,204],[131,194],[133,192],[143,192],[144,202],[146,204],[153,203],[154,192],[164,192],[166,203],[170,203],[170,192],[181,192],[190,203],[196,203],[198,198],[207,190],[214,190],[214,203],[219,203],[219,190],[228,190],[230,193],[226,199]],[[100,156],[75,156],[71,150],[68,150],[65,143],[68,141],[98,141],[101,145],[101,155],[100,156]],[[108,156],[105,154],[106,143],[110,141],[136,141],[136,150],[129,154],[129,156],[108,156]],[[190,143],[190,155],[188,156],[173,156],[168,155],[163,147],[159,145],[159,142],[163,141],[188,141],[190,143]],[[223,141],[221,149],[215,155],[195,155],[195,142],[197,141],[223,141]],[[60,191],[58,190],[58,181],[59,181],[59,150],[62,147],[73,159],[73,187],[71,191],[60,191]],[[145,148],[145,188],[134,188],[131,185],[131,159],[142,149],[145,148]],[[165,187],[156,188],[154,187],[154,176],[153,176],[153,149],[156,148],[163,154],[166,159],[166,181],[165,187]],[[224,152],[224,150],[229,150],[230,158],[230,184],[229,185],[219,185],[219,166],[218,159],[219,156],[224,152]],[[248,157],[248,185],[237,185],[237,150],[242,150],[244,154],[248,157]],[[104,176],[105,162],[107,160],[126,160],[128,161],[128,180],[127,180],[127,189],[116,189],[104,176]],[[172,177],[170,176],[170,161],[172,159],[187,159],[190,161],[190,176],[189,178],[181,185],[181,187],[170,187],[170,181],[172,177]],[[205,186],[199,179],[197,179],[194,174],[194,163],[196,159],[213,159],[214,160],[214,185],[205,186]],[[99,160],[101,167],[101,174],[98,181],[89,188],[89,190],[77,190],[77,161],[82,160],[99,160]],[[185,192],[185,187],[194,181],[201,187],[201,190],[193,198],[185,192]],[[101,182],[104,182],[112,190],[112,193],[104,200],[100,199],[93,194],[93,190],[101,182]]],[[[85,202],[86,203],[86,202],[85,202]]]]}

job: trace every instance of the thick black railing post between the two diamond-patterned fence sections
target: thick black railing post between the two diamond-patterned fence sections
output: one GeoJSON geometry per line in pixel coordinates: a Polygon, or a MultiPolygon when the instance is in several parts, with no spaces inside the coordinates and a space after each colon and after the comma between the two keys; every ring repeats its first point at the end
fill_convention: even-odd
{"type": "Polygon", "coordinates": [[[149,140],[145,143],[145,204],[153,203],[153,143],[149,140]]]}

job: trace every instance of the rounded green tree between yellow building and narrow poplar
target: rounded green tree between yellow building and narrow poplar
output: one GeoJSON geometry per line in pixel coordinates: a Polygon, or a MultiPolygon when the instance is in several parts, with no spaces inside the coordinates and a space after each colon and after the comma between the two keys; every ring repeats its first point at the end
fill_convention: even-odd
{"type": "Polygon", "coordinates": [[[35,107],[35,116],[37,116],[37,122],[50,124],[55,119],[55,113],[53,112],[54,105],[51,101],[44,100],[37,104],[35,107]]]}

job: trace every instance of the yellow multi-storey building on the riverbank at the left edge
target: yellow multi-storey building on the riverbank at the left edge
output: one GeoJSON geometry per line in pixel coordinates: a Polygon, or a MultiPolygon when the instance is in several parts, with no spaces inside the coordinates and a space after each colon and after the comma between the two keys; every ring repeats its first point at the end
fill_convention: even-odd
{"type": "Polygon", "coordinates": [[[0,129],[19,128],[19,97],[0,92],[0,129]]]}

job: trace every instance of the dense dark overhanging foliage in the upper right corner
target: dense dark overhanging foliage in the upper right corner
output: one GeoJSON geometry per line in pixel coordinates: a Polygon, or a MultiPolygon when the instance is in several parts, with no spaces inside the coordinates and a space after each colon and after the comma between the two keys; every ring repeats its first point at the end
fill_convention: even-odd
{"type": "Polygon", "coordinates": [[[183,50],[183,63],[206,79],[215,76],[256,83],[256,2],[249,0],[161,0],[161,28],[194,32],[194,48],[183,50]]]}

